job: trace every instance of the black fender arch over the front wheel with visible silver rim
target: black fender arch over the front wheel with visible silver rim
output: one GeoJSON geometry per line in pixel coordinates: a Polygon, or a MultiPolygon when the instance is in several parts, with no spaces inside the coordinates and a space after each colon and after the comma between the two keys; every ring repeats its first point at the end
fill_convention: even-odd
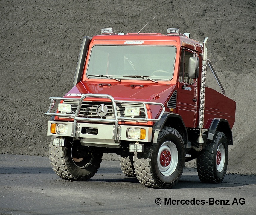
{"type": "Polygon", "coordinates": [[[158,133],[164,126],[169,126],[179,131],[184,144],[188,143],[188,132],[182,117],[176,113],[164,112],[161,119],[153,126],[153,143],[157,142],[158,133]]]}

